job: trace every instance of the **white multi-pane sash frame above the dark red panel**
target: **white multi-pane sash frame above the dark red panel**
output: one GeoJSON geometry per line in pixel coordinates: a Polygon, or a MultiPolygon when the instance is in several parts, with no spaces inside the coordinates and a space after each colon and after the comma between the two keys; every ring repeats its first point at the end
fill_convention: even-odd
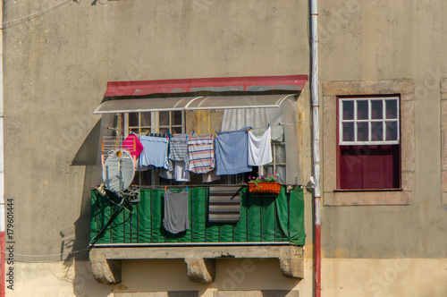
{"type": "Polygon", "coordinates": [[[399,144],[401,140],[401,115],[400,115],[400,100],[399,97],[380,97],[380,98],[340,98],[339,99],[339,144],[343,146],[347,145],[387,145],[387,144],[399,144]],[[385,100],[396,100],[397,102],[397,115],[396,118],[387,119],[386,117],[386,106],[385,100]],[[368,115],[367,119],[358,120],[357,118],[357,104],[358,101],[367,101],[368,115]],[[371,118],[371,102],[372,101],[382,101],[382,119],[372,119],[371,118]],[[353,102],[354,104],[354,118],[352,120],[343,120],[343,103],[353,102]],[[397,140],[386,140],[386,122],[396,122],[397,123],[397,140]],[[354,123],[354,141],[344,141],[343,140],[343,123],[354,123]],[[357,123],[368,123],[368,140],[358,141],[357,140],[357,123]],[[383,140],[373,141],[371,140],[372,135],[372,125],[371,123],[383,123],[383,140]]]}

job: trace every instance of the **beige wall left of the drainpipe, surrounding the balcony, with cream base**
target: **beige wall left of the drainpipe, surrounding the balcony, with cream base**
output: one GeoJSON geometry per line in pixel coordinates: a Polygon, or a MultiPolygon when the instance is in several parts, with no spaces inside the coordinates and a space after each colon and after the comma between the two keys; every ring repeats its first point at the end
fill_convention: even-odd
{"type": "MultiPolygon", "coordinates": [[[[56,2],[4,2],[4,21],[56,2]]],[[[92,112],[107,81],[307,74],[308,3],[101,2],[67,2],[4,26],[5,197],[15,205],[16,242],[15,287],[8,296],[106,296],[154,288],[204,293],[203,286],[186,281],[178,262],[124,263],[122,286],[93,281],[84,250],[100,128],[100,117],[92,112]],[[69,255],[72,250],[83,251],[69,255]],[[171,282],[151,280],[160,268],[171,282]],[[134,276],[142,280],[135,283],[134,276]]],[[[306,199],[310,214],[308,194],[306,199]]],[[[308,294],[311,263],[308,259],[308,276],[299,283],[282,279],[277,263],[260,262],[258,272],[247,276],[249,283],[237,283],[236,289],[295,288],[308,294]]],[[[240,267],[240,261],[229,266],[240,267]]],[[[222,287],[224,274],[218,272],[211,287],[222,287]]]]}

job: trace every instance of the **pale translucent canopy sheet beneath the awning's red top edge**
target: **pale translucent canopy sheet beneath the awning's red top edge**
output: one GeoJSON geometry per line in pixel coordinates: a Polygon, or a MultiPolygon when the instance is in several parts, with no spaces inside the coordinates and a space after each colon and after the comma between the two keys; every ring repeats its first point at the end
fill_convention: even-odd
{"type": "Polygon", "coordinates": [[[109,100],[97,106],[94,114],[120,114],[199,109],[237,109],[279,107],[288,95],[198,96],[181,98],[141,98],[109,100]]]}

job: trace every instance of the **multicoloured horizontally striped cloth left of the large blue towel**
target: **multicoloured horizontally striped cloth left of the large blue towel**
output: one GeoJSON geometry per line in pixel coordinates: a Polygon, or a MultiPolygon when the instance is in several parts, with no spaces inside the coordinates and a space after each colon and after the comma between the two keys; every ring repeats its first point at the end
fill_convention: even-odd
{"type": "Polygon", "coordinates": [[[215,168],[214,137],[196,137],[188,140],[188,157],[190,171],[206,174],[215,168]]]}

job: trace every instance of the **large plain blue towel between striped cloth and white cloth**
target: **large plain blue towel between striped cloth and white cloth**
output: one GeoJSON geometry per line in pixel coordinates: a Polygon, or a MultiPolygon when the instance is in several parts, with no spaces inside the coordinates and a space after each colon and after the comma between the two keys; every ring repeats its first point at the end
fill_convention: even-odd
{"type": "Polygon", "coordinates": [[[250,172],[249,128],[238,131],[217,132],[215,138],[216,174],[241,174],[250,172]]]}

